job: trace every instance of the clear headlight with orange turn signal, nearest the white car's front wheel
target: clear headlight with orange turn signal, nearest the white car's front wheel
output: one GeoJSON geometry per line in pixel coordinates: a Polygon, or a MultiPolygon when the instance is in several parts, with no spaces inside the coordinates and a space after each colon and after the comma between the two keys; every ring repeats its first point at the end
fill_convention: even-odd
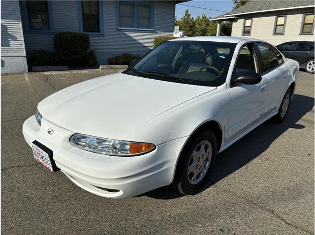
{"type": "Polygon", "coordinates": [[[90,152],[113,156],[133,156],[150,152],[156,148],[154,144],[119,141],[95,136],[74,134],[70,144],[90,152]]]}

